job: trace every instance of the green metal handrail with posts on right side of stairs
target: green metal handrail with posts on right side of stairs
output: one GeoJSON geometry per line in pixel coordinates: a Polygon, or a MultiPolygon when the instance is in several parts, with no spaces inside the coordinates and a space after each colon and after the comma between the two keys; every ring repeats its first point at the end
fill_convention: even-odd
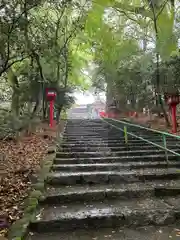
{"type": "Polygon", "coordinates": [[[173,135],[173,134],[170,134],[170,133],[167,133],[167,132],[163,132],[163,131],[158,131],[158,130],[154,130],[154,129],[151,129],[151,128],[146,128],[146,127],[143,127],[143,126],[140,126],[140,125],[137,125],[137,124],[133,124],[133,123],[127,123],[127,122],[124,122],[124,121],[120,121],[120,120],[117,120],[117,119],[112,119],[112,118],[102,118],[103,121],[105,121],[106,123],[108,123],[109,125],[115,127],[116,129],[124,132],[124,140],[125,140],[125,143],[128,144],[128,135],[132,136],[132,137],[135,137],[135,138],[138,138],[140,140],[143,140],[147,143],[150,143],[152,144],[153,146],[156,146],[156,147],[159,147],[163,150],[165,150],[165,156],[166,156],[166,161],[168,162],[168,152],[170,153],[173,153],[174,155],[176,156],[180,156],[179,153],[167,148],[167,140],[166,140],[166,137],[173,137],[173,138],[176,138],[176,139],[179,139],[180,140],[180,136],[176,136],[176,135],[173,135]],[[113,125],[112,123],[109,123],[107,120],[112,120],[114,122],[118,122],[118,123],[121,123],[124,125],[124,128],[120,128],[120,127],[117,127],[116,125],[113,125]],[[162,143],[163,143],[163,146],[157,144],[157,143],[154,143],[152,141],[149,141],[143,137],[140,137],[140,136],[137,136],[136,134],[133,134],[131,132],[128,132],[128,127],[127,126],[132,126],[132,127],[137,127],[139,129],[145,129],[147,131],[150,131],[150,132],[154,132],[154,133],[158,133],[162,136],[162,143]]]}

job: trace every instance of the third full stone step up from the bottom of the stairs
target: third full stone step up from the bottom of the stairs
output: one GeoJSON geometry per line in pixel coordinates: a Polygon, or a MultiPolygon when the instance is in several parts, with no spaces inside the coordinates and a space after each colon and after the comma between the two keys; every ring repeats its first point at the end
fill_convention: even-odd
{"type": "Polygon", "coordinates": [[[76,184],[113,184],[144,182],[146,180],[173,180],[180,178],[180,170],[168,169],[139,169],[129,171],[93,171],[93,172],[52,172],[47,177],[51,185],[76,185],[76,184]]]}

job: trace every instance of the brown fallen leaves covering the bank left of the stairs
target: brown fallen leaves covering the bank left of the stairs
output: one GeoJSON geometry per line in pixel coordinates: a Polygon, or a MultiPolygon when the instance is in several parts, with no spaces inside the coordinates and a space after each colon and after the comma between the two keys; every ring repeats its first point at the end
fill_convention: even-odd
{"type": "Polygon", "coordinates": [[[0,237],[22,216],[24,200],[52,139],[41,129],[18,142],[0,140],[0,237]]]}

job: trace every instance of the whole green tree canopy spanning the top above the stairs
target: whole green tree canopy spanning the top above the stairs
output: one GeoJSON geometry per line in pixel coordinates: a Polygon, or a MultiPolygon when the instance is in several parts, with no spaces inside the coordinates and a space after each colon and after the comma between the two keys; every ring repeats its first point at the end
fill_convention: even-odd
{"type": "Polygon", "coordinates": [[[175,0],[3,0],[0,97],[16,118],[46,115],[56,87],[58,114],[74,89],[106,91],[107,104],[161,106],[179,88],[180,14],[175,0]]]}

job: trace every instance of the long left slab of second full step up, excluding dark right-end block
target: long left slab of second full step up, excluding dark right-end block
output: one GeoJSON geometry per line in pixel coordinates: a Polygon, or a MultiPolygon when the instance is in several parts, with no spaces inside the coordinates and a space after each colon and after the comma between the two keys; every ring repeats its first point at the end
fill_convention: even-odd
{"type": "MultiPolygon", "coordinates": [[[[128,184],[127,184],[128,185],[128,184]]],[[[130,184],[129,184],[130,185],[130,184]]],[[[131,184],[133,185],[133,184],[131,184]]],[[[61,188],[49,188],[41,204],[64,204],[74,201],[102,201],[104,199],[129,199],[131,198],[143,198],[155,196],[153,187],[150,186],[137,186],[134,184],[134,188],[129,186],[125,187],[122,184],[118,185],[96,185],[96,186],[66,186],[61,188]],[[120,188],[120,186],[122,188],[120,188]],[[69,188],[70,187],[70,188],[69,188]]],[[[180,188],[179,188],[180,193],[180,188]]]]}

